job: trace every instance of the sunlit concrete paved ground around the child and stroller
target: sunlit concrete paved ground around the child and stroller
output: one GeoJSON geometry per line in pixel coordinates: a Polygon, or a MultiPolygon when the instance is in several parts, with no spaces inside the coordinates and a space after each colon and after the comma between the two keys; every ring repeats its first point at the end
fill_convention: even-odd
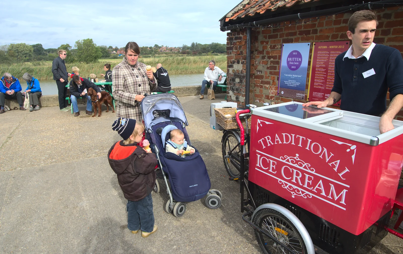
{"type": "MultiPolygon", "coordinates": [[[[217,94],[214,102],[224,100],[217,94]]],[[[120,139],[115,114],[73,117],[58,107],[0,116],[0,252],[2,253],[261,253],[241,219],[237,182],[222,164],[221,132],[209,127],[212,101],[179,98],[192,143],[206,163],[220,209],[205,199],[187,204],[181,218],[164,212],[166,187],[153,193],[158,231],[143,239],[127,229],[126,200],[106,153],[120,139]]],[[[399,253],[388,235],[370,253],[399,253]]]]}

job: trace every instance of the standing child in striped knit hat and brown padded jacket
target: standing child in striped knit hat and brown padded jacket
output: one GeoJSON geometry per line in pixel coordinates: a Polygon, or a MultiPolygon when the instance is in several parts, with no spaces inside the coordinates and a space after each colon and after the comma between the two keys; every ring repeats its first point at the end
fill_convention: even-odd
{"type": "Polygon", "coordinates": [[[143,137],[143,124],[130,118],[118,118],[112,124],[112,130],[123,138],[110,148],[108,161],[127,199],[127,227],[133,234],[140,229],[141,236],[147,237],[157,231],[151,197],[157,158],[154,153],[136,145],[143,137]]]}

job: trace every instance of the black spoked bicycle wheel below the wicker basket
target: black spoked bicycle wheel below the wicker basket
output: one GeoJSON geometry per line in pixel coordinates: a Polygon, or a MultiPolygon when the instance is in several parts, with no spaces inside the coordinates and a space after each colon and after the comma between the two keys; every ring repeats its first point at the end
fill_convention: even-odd
{"type": "Polygon", "coordinates": [[[241,173],[239,172],[241,163],[239,163],[235,158],[240,161],[241,143],[233,132],[226,132],[222,137],[222,159],[226,171],[233,178],[241,176],[241,173]],[[229,155],[229,157],[227,155],[229,155]]]}

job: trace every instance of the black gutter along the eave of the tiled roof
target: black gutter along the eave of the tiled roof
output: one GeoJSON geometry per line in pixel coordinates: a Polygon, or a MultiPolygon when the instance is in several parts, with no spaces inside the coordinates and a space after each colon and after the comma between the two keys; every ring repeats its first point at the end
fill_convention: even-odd
{"type": "MultiPolygon", "coordinates": [[[[326,10],[303,12],[303,13],[292,14],[292,15],[287,15],[287,16],[282,16],[282,17],[275,17],[275,18],[271,18],[271,19],[254,21],[254,22],[250,22],[250,23],[243,23],[243,24],[239,24],[239,25],[230,25],[230,26],[226,26],[226,27],[220,27],[220,30],[229,31],[231,29],[241,29],[244,27],[259,27],[259,25],[264,25],[264,24],[272,24],[272,23],[278,23],[278,22],[283,22],[283,21],[327,16],[327,15],[332,15],[332,14],[336,14],[339,12],[345,12],[348,10],[382,9],[382,8],[385,8],[384,4],[399,6],[399,5],[403,5],[403,0],[383,0],[383,1],[378,1],[378,2],[370,2],[368,4],[353,4],[353,5],[349,5],[349,6],[331,8],[331,9],[326,9],[326,10]]],[[[389,6],[387,6],[387,7],[389,7],[389,6]]]]}

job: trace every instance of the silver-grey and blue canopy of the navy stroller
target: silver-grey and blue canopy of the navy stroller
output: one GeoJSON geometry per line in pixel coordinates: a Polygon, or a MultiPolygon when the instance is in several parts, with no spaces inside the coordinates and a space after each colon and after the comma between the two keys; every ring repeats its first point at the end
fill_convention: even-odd
{"type": "Polygon", "coordinates": [[[145,128],[151,131],[151,127],[160,122],[187,123],[185,112],[178,97],[170,93],[153,94],[144,97],[141,101],[141,112],[145,128]]]}

